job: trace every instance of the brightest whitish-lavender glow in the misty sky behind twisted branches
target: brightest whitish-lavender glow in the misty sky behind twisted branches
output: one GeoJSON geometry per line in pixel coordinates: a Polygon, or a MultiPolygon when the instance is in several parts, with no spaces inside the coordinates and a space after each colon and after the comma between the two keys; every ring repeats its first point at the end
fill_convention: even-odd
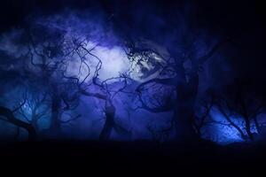
{"type": "Polygon", "coordinates": [[[120,46],[100,46],[94,42],[88,42],[86,50],[91,50],[86,55],[85,62],[87,65],[81,65],[80,57],[74,54],[74,58],[67,64],[66,73],[69,76],[79,76],[80,80],[87,77],[90,81],[98,68],[98,79],[105,81],[107,79],[119,77],[121,73],[129,72],[129,59],[120,46]],[[101,63],[99,63],[101,62],[101,63]],[[89,66],[89,68],[88,68],[89,66]],[[90,75],[88,76],[88,73],[90,75]]]}

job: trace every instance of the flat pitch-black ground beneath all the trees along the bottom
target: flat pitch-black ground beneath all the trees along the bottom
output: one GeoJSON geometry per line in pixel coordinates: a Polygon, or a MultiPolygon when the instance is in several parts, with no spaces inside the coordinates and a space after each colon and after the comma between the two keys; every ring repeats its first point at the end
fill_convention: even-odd
{"type": "Polygon", "coordinates": [[[21,174],[145,172],[239,176],[263,171],[265,148],[265,143],[218,146],[211,142],[17,142],[2,144],[0,158],[2,172],[21,174]]]}

